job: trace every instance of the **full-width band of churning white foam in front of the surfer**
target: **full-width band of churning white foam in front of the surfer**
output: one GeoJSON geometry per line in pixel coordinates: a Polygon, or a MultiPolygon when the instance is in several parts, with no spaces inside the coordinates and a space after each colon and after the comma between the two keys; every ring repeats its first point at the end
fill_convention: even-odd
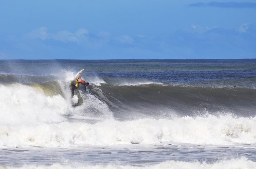
{"type": "MultiPolygon", "coordinates": [[[[28,117],[27,120],[32,119],[28,117]]],[[[220,117],[181,117],[170,120],[104,120],[95,124],[59,122],[0,126],[0,147],[76,147],[116,144],[235,145],[256,143],[256,119],[220,117]]],[[[15,120],[16,122],[16,120],[15,120]]],[[[14,123],[14,122],[13,122],[14,123]]]]}

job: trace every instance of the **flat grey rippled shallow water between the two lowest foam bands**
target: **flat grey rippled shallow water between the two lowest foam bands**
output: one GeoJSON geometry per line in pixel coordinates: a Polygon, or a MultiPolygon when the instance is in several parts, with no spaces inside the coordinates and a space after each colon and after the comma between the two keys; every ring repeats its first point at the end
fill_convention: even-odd
{"type": "Polygon", "coordinates": [[[195,144],[85,146],[79,148],[2,148],[0,165],[53,165],[86,163],[88,165],[147,166],[164,161],[199,161],[215,163],[220,159],[246,157],[256,161],[256,147],[252,145],[202,146],[195,144]],[[8,162],[7,162],[8,161],[8,162]]]}

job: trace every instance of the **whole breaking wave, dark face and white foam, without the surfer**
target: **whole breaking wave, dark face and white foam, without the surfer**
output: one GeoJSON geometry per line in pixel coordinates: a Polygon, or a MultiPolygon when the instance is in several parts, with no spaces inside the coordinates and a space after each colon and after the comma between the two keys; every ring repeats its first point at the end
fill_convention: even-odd
{"type": "Polygon", "coordinates": [[[1,148],[256,144],[255,89],[116,85],[95,78],[72,98],[69,79],[46,78],[2,81],[1,148]]]}

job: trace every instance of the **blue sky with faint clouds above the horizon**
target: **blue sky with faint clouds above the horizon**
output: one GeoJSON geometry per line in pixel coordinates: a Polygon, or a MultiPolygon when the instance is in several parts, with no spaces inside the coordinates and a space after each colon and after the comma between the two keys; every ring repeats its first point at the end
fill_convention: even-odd
{"type": "Polygon", "coordinates": [[[255,0],[0,0],[0,59],[243,58],[255,0]]]}

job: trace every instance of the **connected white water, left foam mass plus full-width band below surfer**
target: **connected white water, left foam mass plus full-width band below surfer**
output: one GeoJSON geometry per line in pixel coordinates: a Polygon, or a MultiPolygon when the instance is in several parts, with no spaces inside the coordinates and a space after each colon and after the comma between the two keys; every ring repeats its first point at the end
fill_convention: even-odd
{"type": "MultiPolygon", "coordinates": [[[[61,95],[48,96],[26,85],[0,85],[0,147],[73,147],[83,145],[256,144],[256,117],[207,115],[118,121],[108,107],[87,95],[86,104],[72,107],[61,95]],[[94,118],[85,110],[104,112],[97,123],[70,122],[66,117],[94,118]]],[[[91,113],[93,114],[93,113],[91,113]]]]}

